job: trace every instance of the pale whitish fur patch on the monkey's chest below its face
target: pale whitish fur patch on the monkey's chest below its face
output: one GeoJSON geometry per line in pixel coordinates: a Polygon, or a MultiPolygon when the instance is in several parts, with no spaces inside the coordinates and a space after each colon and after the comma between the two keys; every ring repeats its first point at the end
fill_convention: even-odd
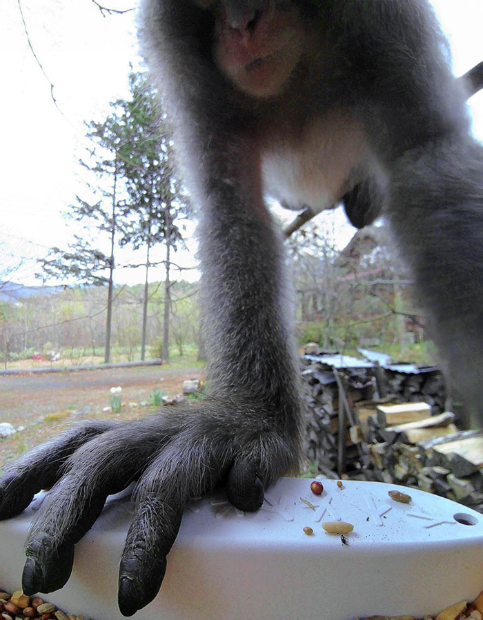
{"type": "Polygon", "coordinates": [[[309,206],[317,213],[353,186],[367,159],[364,132],[351,117],[332,111],[264,150],[264,193],[288,208],[309,206]]]}

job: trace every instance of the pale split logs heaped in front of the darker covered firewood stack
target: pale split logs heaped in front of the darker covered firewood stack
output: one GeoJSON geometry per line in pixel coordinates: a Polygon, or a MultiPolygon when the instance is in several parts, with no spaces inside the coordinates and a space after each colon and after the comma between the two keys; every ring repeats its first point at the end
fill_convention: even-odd
{"type": "MultiPolygon", "coordinates": [[[[480,430],[459,431],[453,413],[431,416],[426,403],[365,403],[357,410],[357,436],[368,447],[373,479],[418,487],[483,512],[480,430]]],[[[356,437],[355,430],[351,435],[356,437]]]]}

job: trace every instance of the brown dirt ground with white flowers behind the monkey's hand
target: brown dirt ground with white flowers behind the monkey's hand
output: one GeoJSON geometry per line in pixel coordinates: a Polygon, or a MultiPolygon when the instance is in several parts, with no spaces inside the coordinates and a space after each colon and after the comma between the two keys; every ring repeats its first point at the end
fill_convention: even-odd
{"type": "Polygon", "coordinates": [[[24,428],[0,439],[0,468],[28,448],[59,434],[71,420],[136,419],[152,414],[152,390],[174,396],[181,392],[185,379],[193,378],[204,379],[204,370],[144,366],[1,376],[0,422],[24,428]],[[109,406],[110,388],[117,386],[122,388],[121,412],[103,412],[109,406]],[[143,401],[148,404],[141,406],[143,401]]]}

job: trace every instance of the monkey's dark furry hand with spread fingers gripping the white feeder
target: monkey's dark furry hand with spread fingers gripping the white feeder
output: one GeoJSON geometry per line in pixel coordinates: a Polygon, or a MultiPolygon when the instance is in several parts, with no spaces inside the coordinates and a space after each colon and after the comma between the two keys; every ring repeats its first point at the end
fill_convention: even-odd
{"type": "Polygon", "coordinates": [[[234,506],[257,510],[264,486],[295,466],[293,429],[281,426],[267,412],[210,401],[139,421],[80,423],[26,453],[0,479],[0,519],[54,487],[28,537],[23,591],[62,588],[75,543],[99,517],[108,494],[137,481],[136,513],[119,568],[119,609],[134,614],[161,586],[190,497],[224,483],[234,506]]]}

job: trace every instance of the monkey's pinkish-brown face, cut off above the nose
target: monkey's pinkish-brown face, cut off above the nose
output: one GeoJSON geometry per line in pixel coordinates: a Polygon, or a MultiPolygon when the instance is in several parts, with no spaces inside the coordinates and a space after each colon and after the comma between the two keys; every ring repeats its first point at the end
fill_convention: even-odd
{"type": "Polygon", "coordinates": [[[302,58],[308,33],[299,10],[282,0],[197,0],[215,14],[215,61],[253,97],[282,92],[302,58]]]}

